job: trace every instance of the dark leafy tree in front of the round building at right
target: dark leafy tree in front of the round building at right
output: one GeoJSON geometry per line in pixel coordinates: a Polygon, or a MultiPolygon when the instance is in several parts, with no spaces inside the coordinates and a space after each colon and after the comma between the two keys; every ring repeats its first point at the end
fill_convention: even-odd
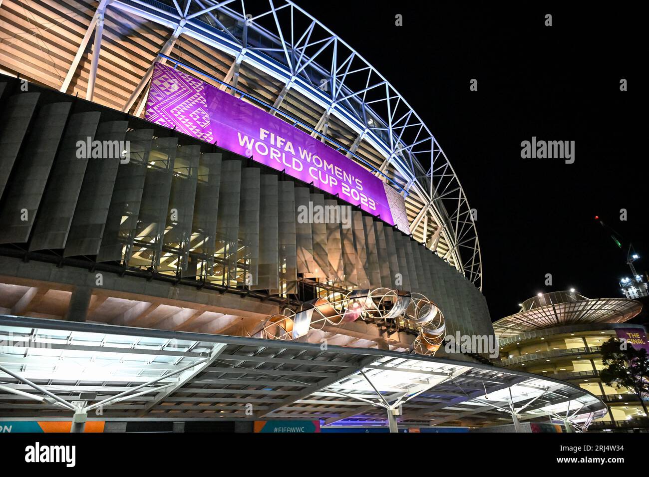
{"type": "Polygon", "coordinates": [[[644,415],[649,417],[643,398],[649,396],[649,357],[644,349],[635,349],[630,344],[611,338],[602,345],[602,369],[600,378],[616,389],[625,387],[640,400],[644,415]]]}

